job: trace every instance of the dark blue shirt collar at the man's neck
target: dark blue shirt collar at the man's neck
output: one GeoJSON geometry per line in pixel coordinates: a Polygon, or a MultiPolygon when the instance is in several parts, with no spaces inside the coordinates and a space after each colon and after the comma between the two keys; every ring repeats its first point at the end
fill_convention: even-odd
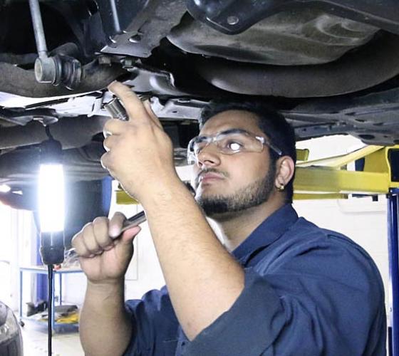
{"type": "Polygon", "coordinates": [[[245,265],[252,253],[272,244],[279,239],[298,219],[298,214],[291,204],[286,204],[274,211],[240,244],[233,256],[245,265]]]}

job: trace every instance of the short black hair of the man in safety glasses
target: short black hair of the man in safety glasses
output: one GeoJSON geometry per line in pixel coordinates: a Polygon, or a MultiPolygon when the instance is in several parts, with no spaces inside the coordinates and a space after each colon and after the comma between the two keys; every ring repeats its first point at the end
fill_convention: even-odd
{"type": "MultiPolygon", "coordinates": [[[[211,101],[202,108],[199,116],[199,127],[201,128],[207,120],[219,114],[220,112],[228,110],[242,110],[252,112],[258,117],[258,125],[270,142],[279,147],[282,156],[289,156],[296,162],[296,148],[295,148],[295,132],[294,128],[289,125],[285,117],[279,112],[271,108],[269,105],[255,101],[238,102],[222,102],[211,101]]],[[[279,155],[269,147],[269,155],[271,157],[271,164],[275,164],[279,155]]],[[[286,184],[286,201],[292,202],[294,194],[294,175],[286,184]]]]}

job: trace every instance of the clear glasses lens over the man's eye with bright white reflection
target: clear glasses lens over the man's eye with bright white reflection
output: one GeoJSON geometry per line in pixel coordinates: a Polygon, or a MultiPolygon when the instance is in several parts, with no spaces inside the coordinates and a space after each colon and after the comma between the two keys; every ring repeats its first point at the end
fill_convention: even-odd
{"type": "Polygon", "coordinates": [[[220,152],[233,155],[237,152],[261,152],[263,145],[255,137],[245,132],[220,134],[215,139],[220,152]]]}

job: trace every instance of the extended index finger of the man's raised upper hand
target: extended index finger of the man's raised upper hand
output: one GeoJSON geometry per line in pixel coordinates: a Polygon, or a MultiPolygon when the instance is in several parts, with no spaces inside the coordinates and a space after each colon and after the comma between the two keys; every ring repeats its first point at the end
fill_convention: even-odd
{"type": "Polygon", "coordinates": [[[148,120],[151,120],[151,117],[148,115],[147,110],[145,110],[144,105],[142,105],[141,100],[127,85],[114,81],[108,85],[108,90],[122,100],[123,106],[125,107],[126,112],[128,112],[129,121],[135,120],[148,122],[148,120]]]}

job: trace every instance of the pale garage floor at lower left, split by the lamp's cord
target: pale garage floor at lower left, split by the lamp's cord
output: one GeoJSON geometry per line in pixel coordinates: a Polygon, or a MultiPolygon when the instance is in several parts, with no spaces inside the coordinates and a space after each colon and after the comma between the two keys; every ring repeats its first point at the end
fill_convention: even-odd
{"type": "MultiPolygon", "coordinates": [[[[47,356],[47,330],[27,322],[22,329],[24,355],[47,356]]],[[[79,334],[66,331],[53,335],[53,356],[84,356],[79,334]]]]}

